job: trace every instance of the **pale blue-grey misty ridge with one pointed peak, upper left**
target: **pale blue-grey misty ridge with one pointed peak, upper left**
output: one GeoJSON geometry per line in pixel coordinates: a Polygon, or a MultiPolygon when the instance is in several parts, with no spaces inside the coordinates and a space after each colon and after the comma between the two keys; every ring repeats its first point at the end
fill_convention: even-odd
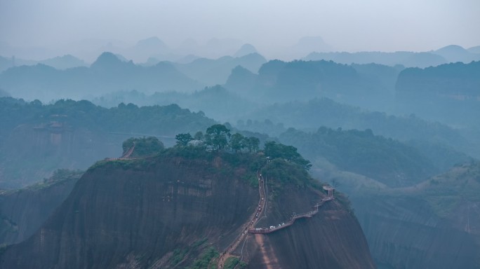
{"type": "Polygon", "coordinates": [[[123,62],[112,53],[102,53],[91,67],[66,70],[44,64],[13,67],[0,74],[0,87],[14,97],[50,101],[67,97],[82,99],[114,90],[189,92],[202,85],[166,62],[140,67],[123,62]]]}

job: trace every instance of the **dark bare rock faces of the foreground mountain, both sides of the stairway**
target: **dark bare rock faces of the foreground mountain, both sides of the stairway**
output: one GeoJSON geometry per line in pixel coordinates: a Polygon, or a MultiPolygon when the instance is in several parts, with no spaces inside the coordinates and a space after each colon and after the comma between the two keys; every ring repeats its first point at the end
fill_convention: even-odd
{"type": "MultiPolygon", "coordinates": [[[[258,163],[206,154],[95,165],[44,226],[4,251],[0,268],[195,268],[202,252],[221,252],[244,231],[259,200],[258,163]]],[[[284,188],[268,196],[265,223],[321,198],[312,187],[284,188]]],[[[284,230],[248,235],[236,251],[248,268],[374,268],[359,223],[336,201],[284,230]]]]}

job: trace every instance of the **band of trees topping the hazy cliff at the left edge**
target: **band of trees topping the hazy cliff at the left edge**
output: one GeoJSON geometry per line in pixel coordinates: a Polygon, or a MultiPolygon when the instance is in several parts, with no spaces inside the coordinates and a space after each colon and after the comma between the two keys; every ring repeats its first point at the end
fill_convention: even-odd
{"type": "Polygon", "coordinates": [[[86,100],[60,99],[53,104],[42,104],[39,100],[25,102],[11,97],[0,98],[1,135],[20,124],[50,121],[90,130],[172,136],[178,132],[202,130],[215,123],[204,113],[191,112],[177,104],[139,107],[121,103],[106,109],[86,100]]]}

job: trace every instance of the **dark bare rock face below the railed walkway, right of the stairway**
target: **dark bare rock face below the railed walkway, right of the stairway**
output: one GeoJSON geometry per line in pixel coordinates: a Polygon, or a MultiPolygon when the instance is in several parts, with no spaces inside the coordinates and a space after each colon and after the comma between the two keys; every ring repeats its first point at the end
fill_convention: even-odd
{"type": "Polygon", "coordinates": [[[358,222],[338,202],[325,204],[312,219],[251,240],[248,268],[375,268],[358,222]]]}

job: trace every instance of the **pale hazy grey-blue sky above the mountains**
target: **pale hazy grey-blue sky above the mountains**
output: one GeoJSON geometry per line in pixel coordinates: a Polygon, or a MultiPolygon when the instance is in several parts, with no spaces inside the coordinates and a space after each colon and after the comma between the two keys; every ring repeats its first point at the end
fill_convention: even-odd
{"type": "MultiPolygon", "coordinates": [[[[0,0],[0,41],[59,48],[81,39],[241,39],[261,51],[321,36],[335,50],[480,45],[479,0],[0,0]]],[[[1,51],[0,51],[1,55],[1,51]]]]}

